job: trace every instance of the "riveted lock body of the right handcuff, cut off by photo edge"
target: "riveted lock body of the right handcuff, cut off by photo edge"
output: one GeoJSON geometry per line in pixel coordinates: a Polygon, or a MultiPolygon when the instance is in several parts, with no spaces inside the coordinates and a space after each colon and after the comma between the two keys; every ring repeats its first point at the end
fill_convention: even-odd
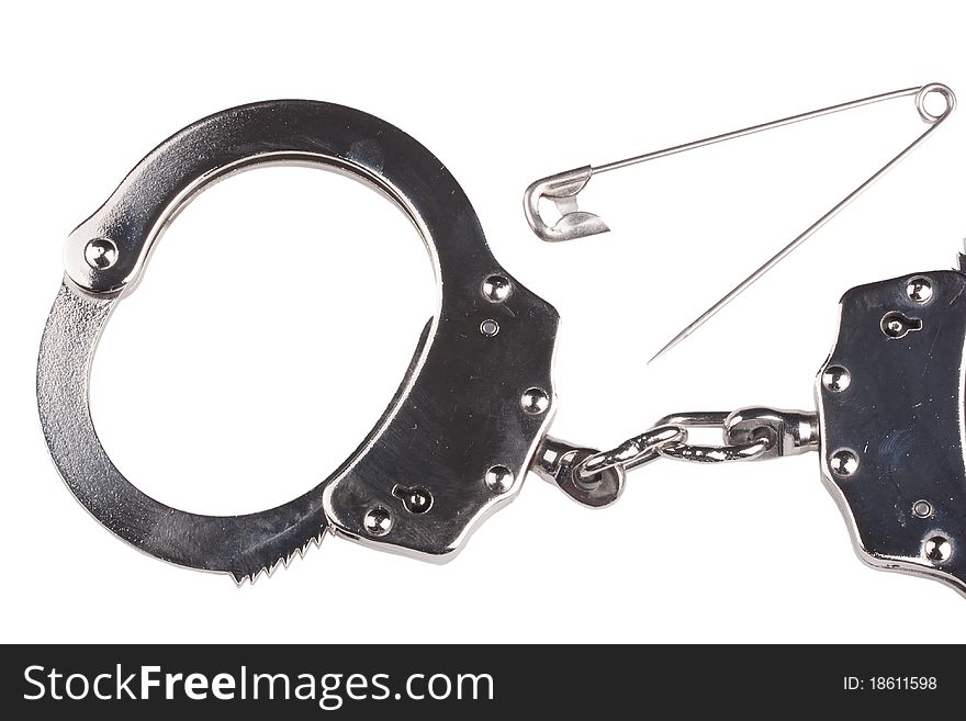
{"type": "Polygon", "coordinates": [[[852,289],[816,382],[822,478],[866,563],[940,579],[966,595],[966,275],[914,273],[852,289]],[[909,293],[929,279],[931,297],[909,293]],[[890,337],[901,313],[918,333],[890,337]],[[841,391],[823,382],[847,368],[841,391]]]}

